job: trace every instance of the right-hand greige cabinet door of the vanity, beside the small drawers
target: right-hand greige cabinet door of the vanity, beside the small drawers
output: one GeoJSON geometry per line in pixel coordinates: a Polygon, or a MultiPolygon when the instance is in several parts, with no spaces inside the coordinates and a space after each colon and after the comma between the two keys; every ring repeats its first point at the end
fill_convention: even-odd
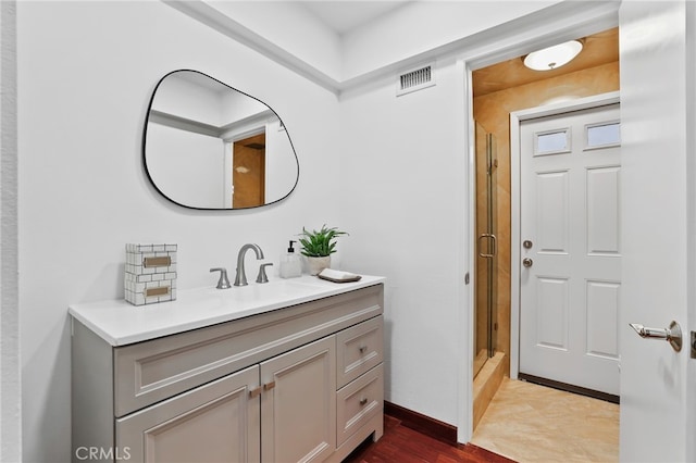
{"type": "Polygon", "coordinates": [[[336,338],[261,364],[261,461],[321,462],[336,449],[336,338]]]}

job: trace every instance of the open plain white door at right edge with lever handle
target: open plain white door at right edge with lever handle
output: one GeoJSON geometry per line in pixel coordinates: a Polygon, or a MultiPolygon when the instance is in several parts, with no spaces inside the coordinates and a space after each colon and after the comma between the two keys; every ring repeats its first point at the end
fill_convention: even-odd
{"type": "Polygon", "coordinates": [[[696,3],[623,1],[619,18],[625,198],[620,456],[693,462],[696,3]],[[681,352],[629,327],[664,328],[672,320],[686,337],[681,352]]]}

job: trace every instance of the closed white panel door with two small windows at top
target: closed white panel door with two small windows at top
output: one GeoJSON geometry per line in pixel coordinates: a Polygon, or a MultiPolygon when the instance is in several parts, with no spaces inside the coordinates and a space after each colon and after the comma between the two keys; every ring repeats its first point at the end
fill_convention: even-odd
{"type": "Polygon", "coordinates": [[[520,373],[618,396],[619,104],[523,121],[520,145],[520,373]]]}

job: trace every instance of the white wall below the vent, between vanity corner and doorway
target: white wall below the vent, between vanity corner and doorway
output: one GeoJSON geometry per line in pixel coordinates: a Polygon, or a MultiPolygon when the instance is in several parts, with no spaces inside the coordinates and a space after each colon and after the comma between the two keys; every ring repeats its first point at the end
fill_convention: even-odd
{"type": "Polygon", "coordinates": [[[341,98],[338,191],[344,267],[387,276],[385,399],[457,425],[465,151],[453,61],[435,74],[402,97],[387,79],[341,98]]]}

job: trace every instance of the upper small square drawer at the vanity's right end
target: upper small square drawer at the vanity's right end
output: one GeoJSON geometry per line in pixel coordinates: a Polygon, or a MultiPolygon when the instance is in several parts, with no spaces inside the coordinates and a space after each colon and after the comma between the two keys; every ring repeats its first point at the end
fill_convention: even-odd
{"type": "Polygon", "coordinates": [[[384,317],[375,316],[336,336],[336,387],[341,388],[384,358],[384,317]]]}

